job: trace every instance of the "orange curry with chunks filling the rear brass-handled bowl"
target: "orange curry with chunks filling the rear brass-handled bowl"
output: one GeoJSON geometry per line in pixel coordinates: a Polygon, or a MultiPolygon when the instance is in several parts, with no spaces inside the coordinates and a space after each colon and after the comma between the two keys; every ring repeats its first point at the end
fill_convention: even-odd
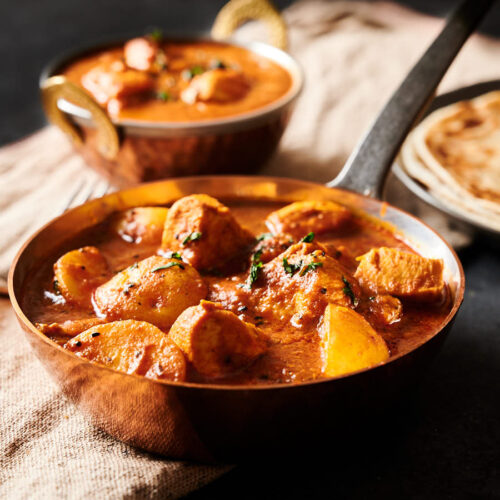
{"type": "Polygon", "coordinates": [[[63,71],[117,120],[186,122],[246,113],[284,96],[290,74],[242,47],[160,33],[95,52],[63,71]]]}

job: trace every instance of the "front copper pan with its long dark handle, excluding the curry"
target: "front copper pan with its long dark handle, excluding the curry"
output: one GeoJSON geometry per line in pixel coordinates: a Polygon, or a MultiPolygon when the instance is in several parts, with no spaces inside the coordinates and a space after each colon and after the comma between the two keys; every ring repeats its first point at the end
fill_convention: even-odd
{"type": "Polygon", "coordinates": [[[371,412],[416,381],[437,353],[464,294],[462,266],[432,229],[379,196],[389,166],[418,114],[477,25],[489,0],[467,0],[410,72],[328,187],[292,179],[196,177],[142,185],[77,207],[50,222],[23,246],[9,274],[9,295],[41,362],[62,391],[101,429],[145,450],[202,461],[239,461],[256,454],[296,452],[318,436],[346,432],[345,422],[371,412]],[[333,187],[334,189],[331,189],[333,187]],[[169,204],[205,192],[232,201],[340,200],[393,224],[425,256],[445,264],[453,307],[420,347],[385,365],[344,377],[270,386],[158,382],[91,364],[58,347],[36,330],[20,306],[22,286],[37,263],[61,252],[64,243],[110,213],[140,205],[169,204]],[[343,422],[343,423],[341,423],[343,422]]]}

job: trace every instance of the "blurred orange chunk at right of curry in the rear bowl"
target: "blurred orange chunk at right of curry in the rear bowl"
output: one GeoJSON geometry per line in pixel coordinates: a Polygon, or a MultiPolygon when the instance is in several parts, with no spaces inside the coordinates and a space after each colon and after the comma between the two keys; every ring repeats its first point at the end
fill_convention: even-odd
{"type": "Polygon", "coordinates": [[[212,69],[196,75],[181,93],[186,104],[196,101],[231,102],[250,90],[245,75],[232,69],[212,69]]]}

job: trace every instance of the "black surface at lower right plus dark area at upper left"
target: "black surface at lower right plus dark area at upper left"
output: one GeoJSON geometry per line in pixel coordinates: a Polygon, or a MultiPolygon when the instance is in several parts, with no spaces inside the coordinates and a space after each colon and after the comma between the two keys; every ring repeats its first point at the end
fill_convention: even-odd
{"type": "MultiPolygon", "coordinates": [[[[61,50],[148,26],[207,30],[224,3],[0,2],[0,145],[44,125],[37,78],[61,50]]],[[[442,15],[454,2],[404,3],[442,15]]],[[[500,36],[499,3],[481,30],[500,36]]],[[[445,347],[416,391],[375,424],[366,415],[371,436],[348,450],[317,442],[308,456],[236,467],[191,498],[500,498],[500,242],[478,236],[459,256],[466,295],[445,347]]]]}

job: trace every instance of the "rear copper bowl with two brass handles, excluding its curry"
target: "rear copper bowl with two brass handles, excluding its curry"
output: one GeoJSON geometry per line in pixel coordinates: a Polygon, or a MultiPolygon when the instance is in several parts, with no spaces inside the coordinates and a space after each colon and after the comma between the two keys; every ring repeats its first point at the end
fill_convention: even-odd
{"type": "MultiPolygon", "coordinates": [[[[182,41],[223,39],[241,22],[253,18],[266,23],[272,41],[284,48],[286,29],[278,12],[263,0],[242,3],[246,9],[230,2],[221,10],[212,39],[186,37],[182,41]]],[[[180,39],[167,35],[165,40],[180,39]]],[[[125,41],[114,40],[66,54],[49,64],[40,77],[47,118],[71,137],[88,165],[124,187],[168,177],[252,173],[270,158],[303,86],[300,66],[289,54],[266,43],[232,43],[271,59],[292,78],[289,91],[262,108],[196,122],[114,120],[90,94],[59,73],[75,59],[125,41]]]]}

